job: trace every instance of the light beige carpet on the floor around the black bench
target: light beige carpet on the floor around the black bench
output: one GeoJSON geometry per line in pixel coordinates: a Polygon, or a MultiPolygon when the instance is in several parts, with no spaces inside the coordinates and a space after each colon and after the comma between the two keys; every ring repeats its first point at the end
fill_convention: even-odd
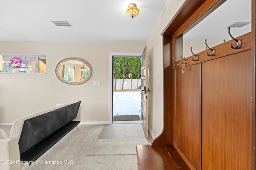
{"type": "MultiPolygon", "coordinates": [[[[103,126],[78,125],[27,170],[137,170],[136,145],[146,139],[98,139],[103,126]]],[[[10,134],[10,127],[0,129],[10,134]]]]}

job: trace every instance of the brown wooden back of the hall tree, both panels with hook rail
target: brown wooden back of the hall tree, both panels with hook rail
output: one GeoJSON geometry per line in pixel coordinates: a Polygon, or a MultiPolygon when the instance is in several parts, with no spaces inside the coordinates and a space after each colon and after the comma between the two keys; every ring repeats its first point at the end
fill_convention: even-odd
{"type": "Polygon", "coordinates": [[[216,56],[186,64],[184,74],[173,67],[173,144],[190,168],[254,167],[250,35],[239,37],[244,43],[240,49],[230,48],[232,40],[218,45],[222,50],[216,56]]]}

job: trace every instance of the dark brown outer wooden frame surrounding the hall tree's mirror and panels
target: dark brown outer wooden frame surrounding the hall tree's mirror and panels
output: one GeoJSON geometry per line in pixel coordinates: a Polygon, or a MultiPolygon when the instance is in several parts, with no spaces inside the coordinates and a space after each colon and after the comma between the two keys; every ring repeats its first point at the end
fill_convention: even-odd
{"type": "MultiPolygon", "coordinates": [[[[217,3],[222,4],[226,0],[186,0],[172,20],[168,23],[164,31],[163,36],[163,61],[164,63],[164,128],[162,133],[152,142],[152,146],[164,146],[173,145],[173,131],[174,124],[173,119],[175,118],[175,70],[172,69],[174,64],[172,57],[174,56],[174,40],[175,36],[180,35],[182,31],[193,26],[194,24],[201,21],[206,16],[204,14],[210,14],[213,10],[217,8],[217,3]],[[207,3],[205,3],[207,1],[207,3]],[[212,8],[213,7],[213,8],[212,8]],[[166,46],[168,48],[166,48],[166,46]],[[165,47],[165,48],[164,48],[165,47]],[[168,96],[172,96],[171,98],[168,96]],[[172,104],[172,105],[170,105],[172,104]]],[[[252,32],[251,32],[251,47],[252,47],[252,84],[251,84],[251,94],[252,94],[252,148],[256,146],[255,141],[255,32],[256,32],[256,18],[255,18],[255,0],[252,0],[252,32]]],[[[252,151],[252,167],[255,168],[256,165],[256,152],[255,149],[252,151]]]]}

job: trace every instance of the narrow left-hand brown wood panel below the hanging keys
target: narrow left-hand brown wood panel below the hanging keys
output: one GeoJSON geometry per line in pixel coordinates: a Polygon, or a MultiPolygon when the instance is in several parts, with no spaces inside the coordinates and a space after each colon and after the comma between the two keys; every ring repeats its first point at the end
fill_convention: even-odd
{"type": "Polygon", "coordinates": [[[196,169],[200,169],[201,64],[176,70],[176,145],[196,169]]]}

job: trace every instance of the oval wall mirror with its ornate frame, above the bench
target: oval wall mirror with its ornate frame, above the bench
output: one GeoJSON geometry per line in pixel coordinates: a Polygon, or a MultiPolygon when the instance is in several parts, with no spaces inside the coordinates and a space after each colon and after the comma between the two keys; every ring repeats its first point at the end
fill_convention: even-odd
{"type": "Polygon", "coordinates": [[[92,67],[84,59],[67,58],[57,64],[55,73],[60,81],[77,85],[89,80],[92,75],[92,67]]]}

